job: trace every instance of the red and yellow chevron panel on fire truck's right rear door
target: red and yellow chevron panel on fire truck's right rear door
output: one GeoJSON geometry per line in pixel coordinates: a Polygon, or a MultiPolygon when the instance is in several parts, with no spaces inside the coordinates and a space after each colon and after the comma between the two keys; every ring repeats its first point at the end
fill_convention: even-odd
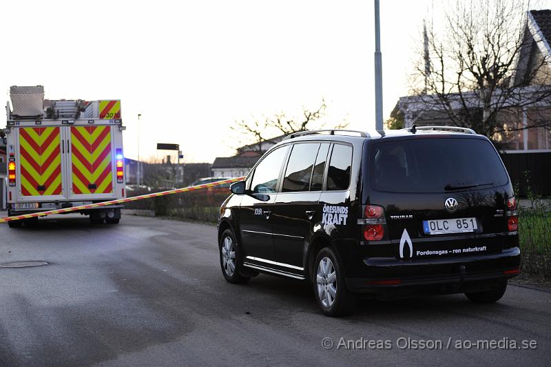
{"type": "Polygon", "coordinates": [[[111,126],[71,126],[74,194],[113,192],[111,126]]]}

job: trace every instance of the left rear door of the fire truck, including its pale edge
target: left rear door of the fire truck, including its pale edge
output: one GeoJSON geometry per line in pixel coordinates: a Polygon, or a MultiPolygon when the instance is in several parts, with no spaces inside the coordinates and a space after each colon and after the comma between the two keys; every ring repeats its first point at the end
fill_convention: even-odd
{"type": "Polygon", "coordinates": [[[63,129],[33,126],[14,129],[17,157],[18,201],[45,201],[67,198],[63,186],[63,129]]]}

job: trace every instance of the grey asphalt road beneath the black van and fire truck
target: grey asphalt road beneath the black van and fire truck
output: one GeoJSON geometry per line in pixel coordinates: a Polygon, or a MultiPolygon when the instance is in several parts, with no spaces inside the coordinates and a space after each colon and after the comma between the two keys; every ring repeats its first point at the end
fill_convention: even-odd
{"type": "Polygon", "coordinates": [[[68,215],[41,219],[37,228],[3,224],[0,233],[0,263],[50,262],[0,268],[0,366],[551,361],[550,292],[510,286],[493,305],[463,295],[367,301],[355,315],[332,319],[318,312],[305,282],[260,275],[227,284],[216,226],[126,216],[118,226],[92,227],[68,215]],[[324,338],[332,348],[323,348],[331,346],[324,338]],[[484,348],[491,340],[537,346],[484,348]],[[386,349],[375,349],[377,341],[386,349]]]}

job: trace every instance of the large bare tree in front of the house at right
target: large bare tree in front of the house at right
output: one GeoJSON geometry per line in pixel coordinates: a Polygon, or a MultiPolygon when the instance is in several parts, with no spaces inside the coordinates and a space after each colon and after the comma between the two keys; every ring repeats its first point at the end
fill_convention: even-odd
{"type": "Polygon", "coordinates": [[[435,32],[429,24],[424,32],[424,57],[411,83],[417,97],[410,102],[498,145],[510,131],[551,128],[550,115],[531,113],[534,121],[521,123],[527,109],[551,110],[551,59],[540,52],[543,40],[530,35],[529,6],[523,0],[446,3],[444,29],[435,32]]]}

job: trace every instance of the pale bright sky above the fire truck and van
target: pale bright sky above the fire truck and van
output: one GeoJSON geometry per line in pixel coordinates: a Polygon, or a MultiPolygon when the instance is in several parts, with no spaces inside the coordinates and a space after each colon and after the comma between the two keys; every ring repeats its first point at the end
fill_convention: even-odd
{"type": "MultiPolygon", "coordinates": [[[[49,99],[121,99],[129,158],[139,133],[142,159],[162,154],[156,143],[178,143],[185,162],[212,163],[243,141],[236,120],[292,117],[322,99],[328,126],[375,127],[370,0],[19,0],[2,9],[6,101],[14,85],[42,85],[49,99]]],[[[381,0],[384,119],[407,95],[433,10],[430,0],[381,0]]]]}

